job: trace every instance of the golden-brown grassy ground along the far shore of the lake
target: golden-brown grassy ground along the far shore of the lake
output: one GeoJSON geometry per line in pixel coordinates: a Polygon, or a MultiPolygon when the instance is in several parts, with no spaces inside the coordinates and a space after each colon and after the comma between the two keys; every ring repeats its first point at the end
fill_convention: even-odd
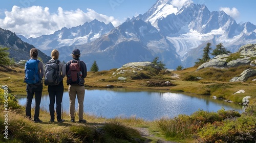
{"type": "MultiPolygon", "coordinates": [[[[202,94],[224,98],[236,103],[241,103],[242,98],[251,96],[251,102],[254,103],[255,83],[250,77],[246,82],[228,82],[231,78],[239,76],[245,69],[254,68],[251,66],[239,66],[228,69],[204,68],[196,71],[197,67],[185,68],[167,72],[165,70],[144,69],[134,73],[125,73],[114,75],[116,69],[103,70],[98,72],[88,72],[86,78],[86,88],[130,88],[130,89],[157,89],[182,91],[188,93],[202,94]],[[178,76],[174,76],[178,75],[178,76]],[[125,81],[118,80],[118,77],[125,77],[125,81]],[[196,79],[201,77],[201,80],[196,79]],[[169,84],[164,84],[165,82],[169,84]],[[245,90],[243,94],[233,93],[239,90],[245,90]]],[[[255,68],[254,68],[255,69],[255,68]]],[[[24,80],[23,67],[1,67],[0,84],[8,85],[10,93],[14,95],[26,95],[26,84],[24,80]]],[[[66,83],[66,78],[64,79],[66,83]]],[[[68,89],[64,84],[65,90],[68,89]]],[[[47,92],[47,86],[44,91],[47,92]]]]}

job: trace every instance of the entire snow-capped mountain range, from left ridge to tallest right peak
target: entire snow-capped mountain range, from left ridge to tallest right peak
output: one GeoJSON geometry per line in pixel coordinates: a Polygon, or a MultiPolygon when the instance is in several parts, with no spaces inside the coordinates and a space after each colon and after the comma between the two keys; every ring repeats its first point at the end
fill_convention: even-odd
{"type": "Polygon", "coordinates": [[[97,20],[92,23],[28,40],[47,54],[58,48],[65,61],[78,47],[83,53],[81,59],[89,67],[96,60],[100,70],[127,62],[152,61],[157,56],[167,68],[190,67],[202,57],[207,42],[212,49],[223,43],[231,52],[256,43],[256,26],[252,23],[237,23],[223,11],[211,12],[205,5],[189,1],[178,8],[172,0],[158,0],[146,13],[127,18],[116,28],[111,23],[100,25],[97,20]]]}

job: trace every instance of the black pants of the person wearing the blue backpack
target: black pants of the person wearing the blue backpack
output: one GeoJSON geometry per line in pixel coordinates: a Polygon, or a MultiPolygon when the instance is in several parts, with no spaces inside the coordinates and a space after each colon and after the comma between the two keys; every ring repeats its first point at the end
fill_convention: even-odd
{"type": "Polygon", "coordinates": [[[27,103],[26,103],[26,116],[31,118],[31,104],[35,94],[35,114],[34,120],[39,119],[39,110],[42,97],[42,83],[27,84],[27,103]]]}

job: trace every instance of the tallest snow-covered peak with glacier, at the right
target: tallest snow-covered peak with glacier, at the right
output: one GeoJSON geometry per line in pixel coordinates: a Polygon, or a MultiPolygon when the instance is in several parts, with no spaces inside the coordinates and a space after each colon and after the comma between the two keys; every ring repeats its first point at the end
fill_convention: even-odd
{"type": "Polygon", "coordinates": [[[194,3],[186,3],[178,11],[171,2],[158,0],[150,10],[133,19],[151,22],[166,36],[184,67],[193,66],[201,58],[207,42],[212,43],[213,49],[223,43],[231,52],[237,52],[241,45],[256,43],[256,27],[250,22],[238,24],[223,11],[210,12],[205,5],[194,3]]]}

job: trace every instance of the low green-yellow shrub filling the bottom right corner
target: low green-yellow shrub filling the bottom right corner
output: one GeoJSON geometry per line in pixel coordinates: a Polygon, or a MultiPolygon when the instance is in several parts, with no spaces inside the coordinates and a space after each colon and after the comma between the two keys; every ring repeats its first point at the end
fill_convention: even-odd
{"type": "Polygon", "coordinates": [[[255,118],[240,117],[238,120],[225,120],[206,124],[199,131],[200,142],[255,142],[255,118]]]}

